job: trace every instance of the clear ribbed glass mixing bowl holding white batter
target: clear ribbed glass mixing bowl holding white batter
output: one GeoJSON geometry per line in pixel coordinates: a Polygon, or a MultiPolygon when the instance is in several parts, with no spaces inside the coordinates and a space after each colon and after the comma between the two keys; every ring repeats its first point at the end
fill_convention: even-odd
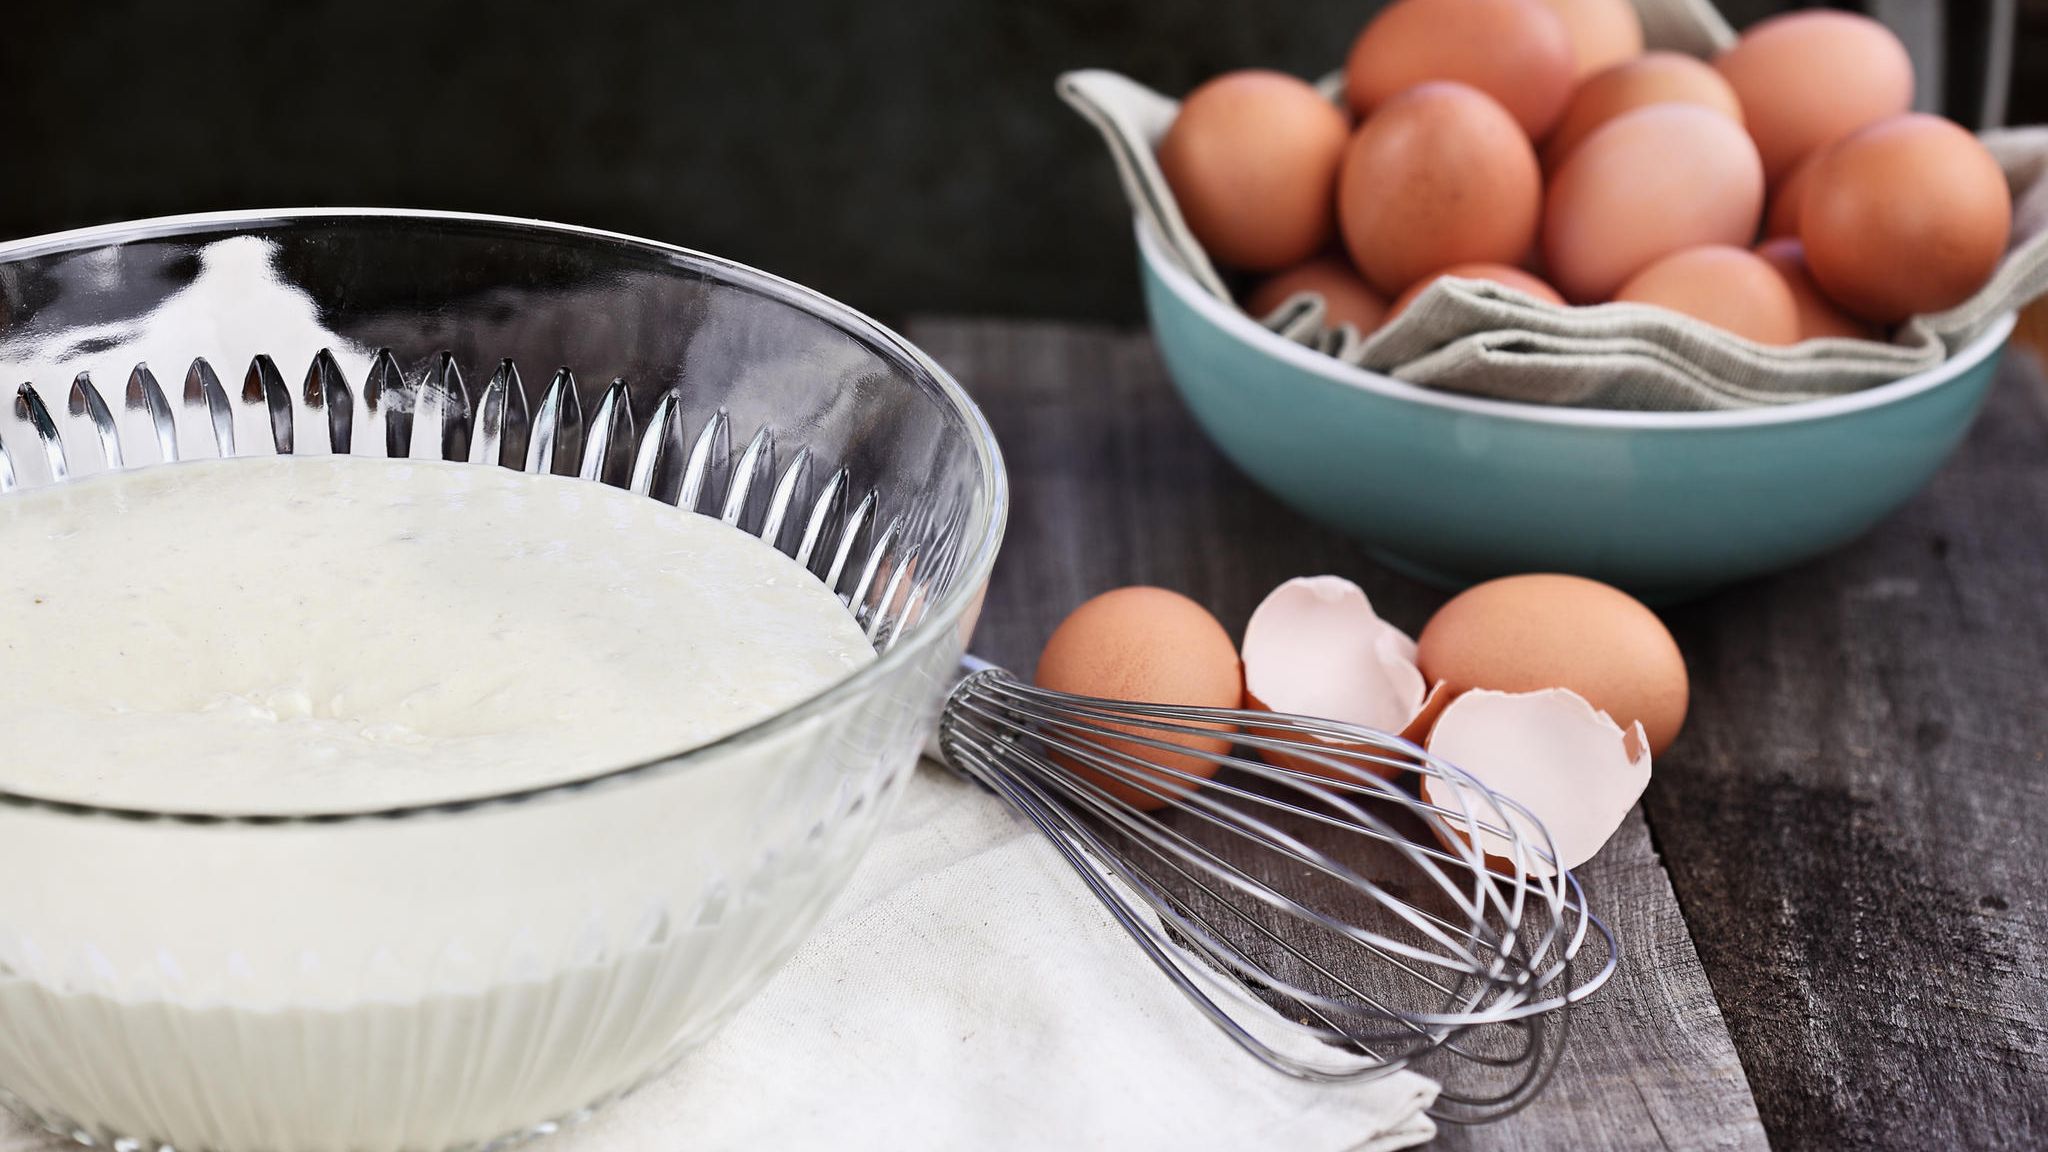
{"type": "Polygon", "coordinates": [[[702,1041],[874,834],[1006,510],[987,424],[893,332],[727,260],[532,221],[276,211],[6,244],[0,373],[27,381],[0,408],[0,490],[336,447],[578,474],[764,535],[881,650],[717,744],[520,795],[0,791],[0,1101],[121,1148],[475,1148],[702,1041]]]}

